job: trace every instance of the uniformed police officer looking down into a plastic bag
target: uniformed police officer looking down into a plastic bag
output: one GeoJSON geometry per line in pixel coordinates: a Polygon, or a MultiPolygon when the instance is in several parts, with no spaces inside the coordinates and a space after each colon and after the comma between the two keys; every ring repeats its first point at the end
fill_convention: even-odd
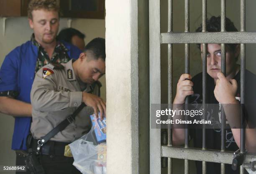
{"type": "Polygon", "coordinates": [[[91,128],[90,112],[100,117],[106,112],[105,102],[98,97],[97,80],[105,74],[105,39],[95,38],[87,44],[77,60],[66,64],[49,64],[37,73],[31,90],[33,150],[61,121],[84,102],[87,107],[75,121],[41,147],[40,161],[47,174],[80,173],[72,166],[73,158],[64,157],[65,145],[82,137],[91,128]]]}

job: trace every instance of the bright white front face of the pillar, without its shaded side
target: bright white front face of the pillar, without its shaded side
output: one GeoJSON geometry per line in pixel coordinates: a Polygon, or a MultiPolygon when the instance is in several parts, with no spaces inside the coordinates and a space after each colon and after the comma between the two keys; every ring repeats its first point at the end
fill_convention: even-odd
{"type": "Polygon", "coordinates": [[[131,174],[131,0],[105,5],[107,169],[108,174],[131,174]]]}

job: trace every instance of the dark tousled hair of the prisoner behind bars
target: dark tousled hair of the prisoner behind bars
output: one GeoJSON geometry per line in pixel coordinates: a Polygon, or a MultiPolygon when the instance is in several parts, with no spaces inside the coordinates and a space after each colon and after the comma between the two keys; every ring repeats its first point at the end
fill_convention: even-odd
{"type": "MultiPolygon", "coordinates": [[[[212,16],[209,20],[206,21],[206,30],[207,32],[220,32],[221,29],[221,22],[220,16],[215,17],[212,16]]],[[[226,31],[227,32],[237,32],[234,23],[226,17],[226,31]]],[[[202,24],[200,27],[197,28],[196,32],[202,32],[202,24]]],[[[236,46],[238,44],[227,44],[231,51],[235,52],[236,46]]],[[[201,50],[201,44],[197,44],[197,47],[201,50]]]]}

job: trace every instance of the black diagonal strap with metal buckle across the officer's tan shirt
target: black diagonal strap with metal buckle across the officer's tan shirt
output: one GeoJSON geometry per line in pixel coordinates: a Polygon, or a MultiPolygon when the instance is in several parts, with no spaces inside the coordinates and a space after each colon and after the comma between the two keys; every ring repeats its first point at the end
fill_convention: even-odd
{"type": "Polygon", "coordinates": [[[40,140],[38,140],[38,146],[37,146],[37,152],[39,153],[41,146],[46,144],[54,135],[64,130],[70,123],[74,122],[75,117],[77,114],[85,107],[85,104],[82,103],[72,115],[67,117],[67,119],[64,119],[60,124],[58,124],[54,129],[52,129],[48,134],[46,134],[44,137],[42,137],[40,140]]]}

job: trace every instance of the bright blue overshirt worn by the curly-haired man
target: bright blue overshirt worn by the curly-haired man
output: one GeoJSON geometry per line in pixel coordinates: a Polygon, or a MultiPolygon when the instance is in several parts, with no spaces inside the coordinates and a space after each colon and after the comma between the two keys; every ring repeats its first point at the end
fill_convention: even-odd
{"type": "MultiPolygon", "coordinates": [[[[77,59],[81,51],[67,43],[62,42],[69,50],[70,58],[77,59]]],[[[3,61],[0,69],[0,92],[17,91],[16,99],[31,103],[30,91],[35,76],[38,48],[28,41],[12,50],[3,61]]],[[[30,132],[31,117],[15,117],[12,149],[26,150],[26,137],[30,132]]]]}

